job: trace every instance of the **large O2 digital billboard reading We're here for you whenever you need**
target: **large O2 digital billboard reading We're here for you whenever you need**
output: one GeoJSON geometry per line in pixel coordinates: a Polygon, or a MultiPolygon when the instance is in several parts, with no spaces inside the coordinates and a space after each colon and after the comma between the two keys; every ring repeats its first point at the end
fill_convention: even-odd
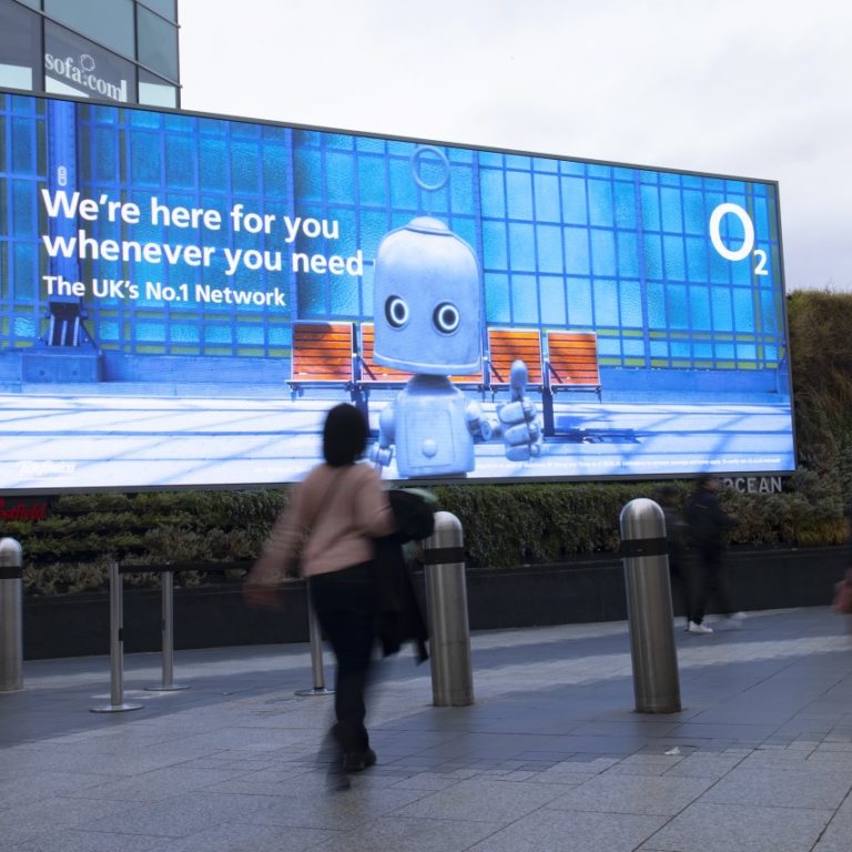
{"type": "Polygon", "coordinates": [[[778,185],[0,92],[0,491],[794,468],[778,185]]]}

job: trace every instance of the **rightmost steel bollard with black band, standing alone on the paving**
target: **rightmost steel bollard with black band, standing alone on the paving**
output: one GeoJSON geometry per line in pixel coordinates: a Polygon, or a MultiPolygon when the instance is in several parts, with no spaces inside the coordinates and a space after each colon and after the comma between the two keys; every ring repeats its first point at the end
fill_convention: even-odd
{"type": "Polygon", "coordinates": [[[676,713],[680,682],[666,518],[653,500],[640,497],[625,506],[620,524],[636,709],[676,713]]]}

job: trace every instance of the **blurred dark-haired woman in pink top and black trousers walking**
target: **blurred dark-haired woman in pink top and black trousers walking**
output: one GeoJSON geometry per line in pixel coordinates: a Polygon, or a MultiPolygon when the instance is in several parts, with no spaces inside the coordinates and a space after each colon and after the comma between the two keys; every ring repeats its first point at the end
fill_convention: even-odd
{"type": "MultiPolygon", "coordinates": [[[[328,412],[323,428],[325,463],[294,487],[248,578],[251,584],[277,582],[302,547],[300,572],[307,579],[336,662],[334,769],[344,773],[376,762],[364,724],[364,697],[376,641],[373,538],[395,528],[378,475],[357,464],[367,435],[366,420],[354,406],[342,404],[328,412]]],[[[348,783],[341,777],[338,785],[348,783]]]]}

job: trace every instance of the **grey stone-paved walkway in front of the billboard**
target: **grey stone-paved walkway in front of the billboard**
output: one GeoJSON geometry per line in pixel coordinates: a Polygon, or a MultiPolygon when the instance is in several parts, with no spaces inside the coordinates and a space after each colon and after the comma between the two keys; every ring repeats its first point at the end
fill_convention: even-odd
{"type": "MultiPolygon", "coordinates": [[[[26,665],[0,694],[0,850],[14,852],[849,852],[852,637],[825,608],[677,631],[683,710],[633,711],[627,625],[474,637],[476,703],[382,666],[379,763],[328,792],[333,699],[307,646],[26,665]]],[[[331,666],[326,666],[331,679],[331,666]]]]}

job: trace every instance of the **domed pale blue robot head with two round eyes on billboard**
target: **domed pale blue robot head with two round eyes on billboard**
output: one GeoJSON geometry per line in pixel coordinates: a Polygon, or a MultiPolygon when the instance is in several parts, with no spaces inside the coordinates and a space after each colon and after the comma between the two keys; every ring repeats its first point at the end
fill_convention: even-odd
{"type": "Polygon", "coordinates": [[[443,222],[419,216],[384,236],[374,298],[379,364],[437,376],[481,368],[479,264],[443,222]]]}

